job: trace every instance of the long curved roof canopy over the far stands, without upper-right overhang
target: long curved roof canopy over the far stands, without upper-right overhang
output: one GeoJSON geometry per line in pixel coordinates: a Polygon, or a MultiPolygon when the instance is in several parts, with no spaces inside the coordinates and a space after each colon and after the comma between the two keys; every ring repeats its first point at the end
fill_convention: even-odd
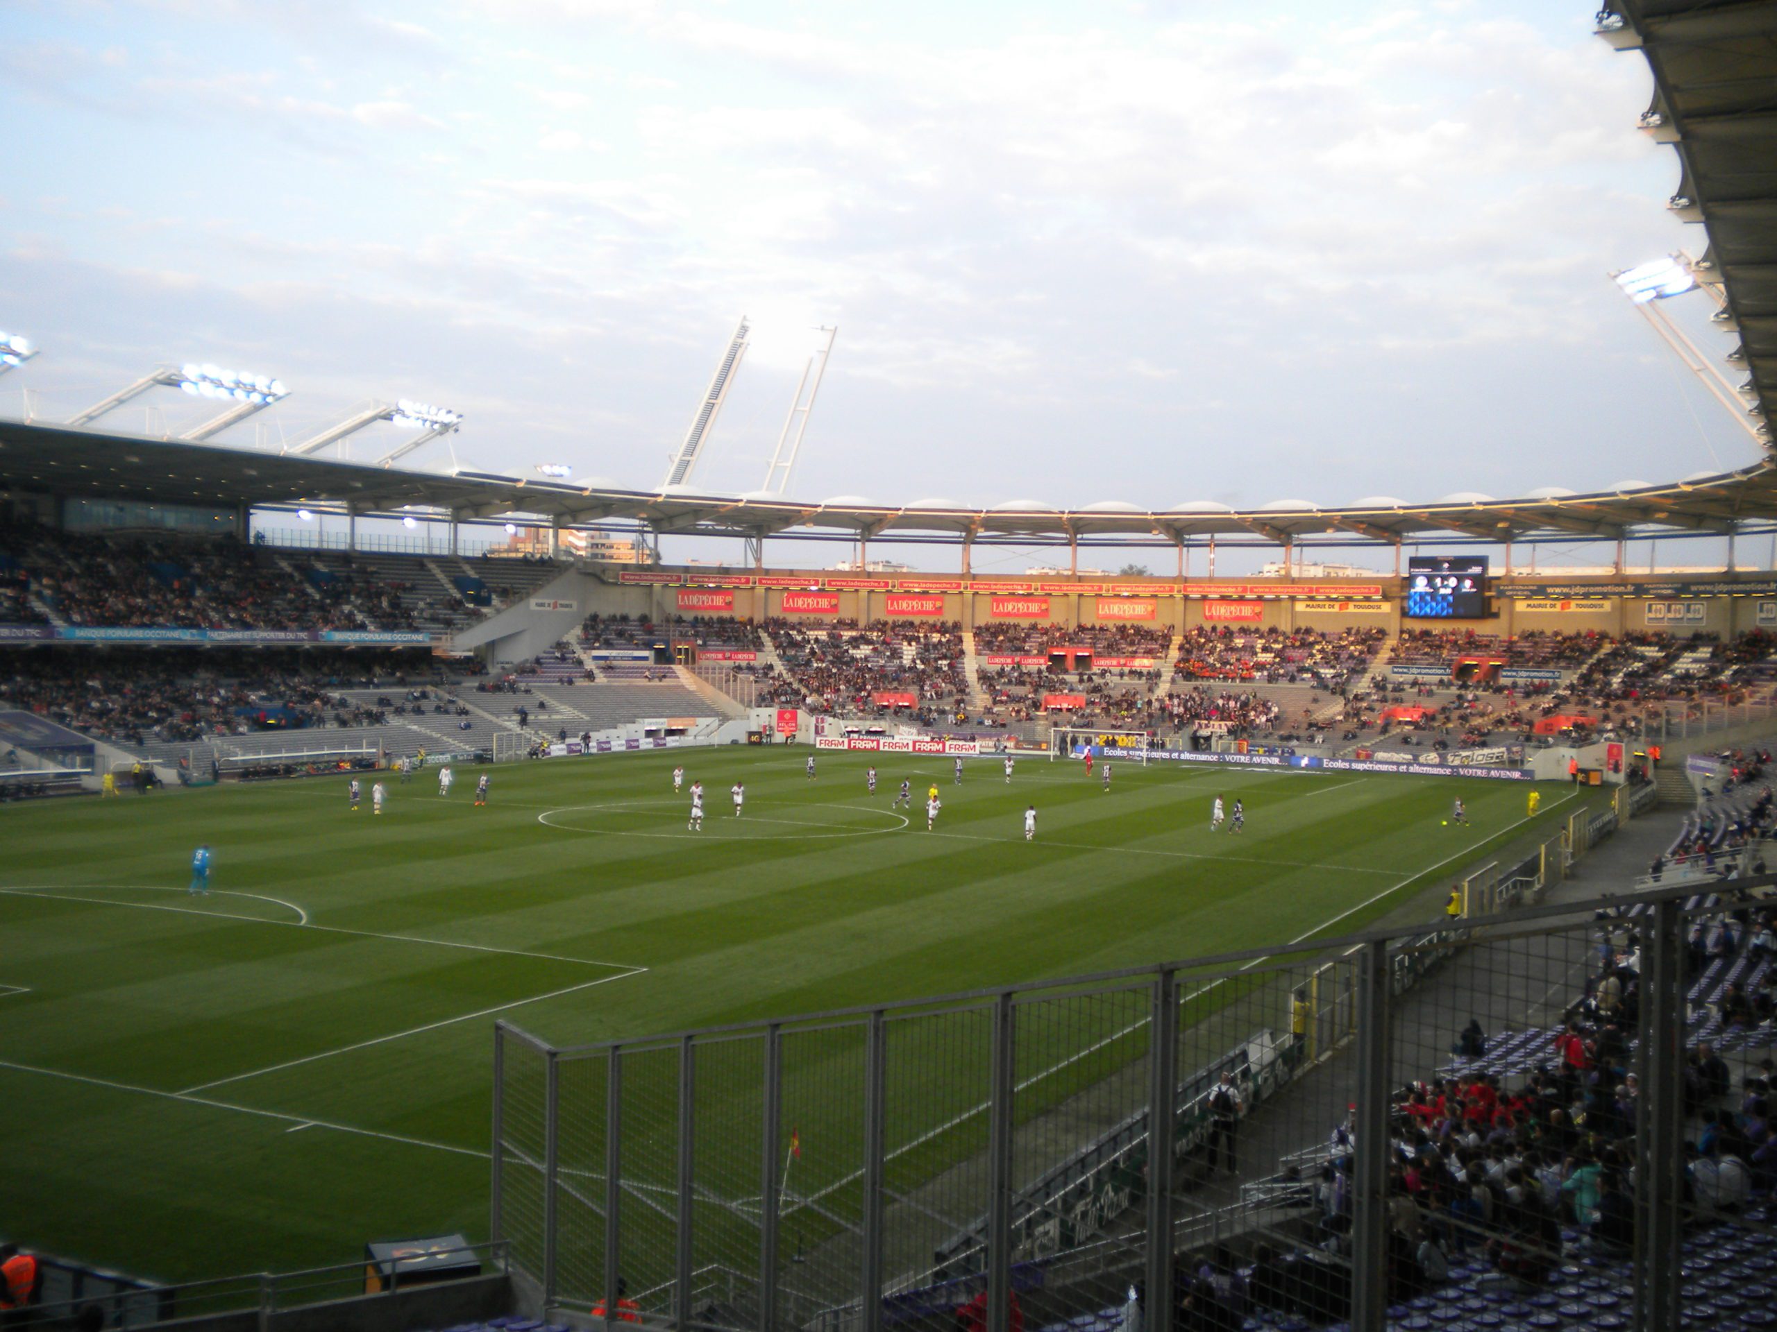
{"type": "Polygon", "coordinates": [[[1537,533],[1569,540],[1615,540],[1631,531],[1729,533],[1736,524],[1777,517],[1777,469],[1768,464],[1736,472],[1699,474],[1670,485],[1628,485],[1596,494],[1562,492],[1509,501],[1450,496],[1434,504],[1368,501],[1351,508],[1283,501],[1244,511],[1210,503],[1182,503],[1164,510],[1116,503],[1056,510],[1034,501],[984,510],[931,504],[897,508],[689,490],[618,490],[492,472],[403,471],[16,421],[0,421],[0,488],[149,504],[307,504],[368,517],[400,517],[412,508],[460,520],[514,517],[565,526],[626,519],[645,522],[661,533],[743,538],[825,529],[864,536],[929,533],[954,540],[1032,536],[1175,542],[1244,535],[1281,543],[1324,533],[1375,542],[1411,542],[1434,535],[1505,542],[1537,533]]]}

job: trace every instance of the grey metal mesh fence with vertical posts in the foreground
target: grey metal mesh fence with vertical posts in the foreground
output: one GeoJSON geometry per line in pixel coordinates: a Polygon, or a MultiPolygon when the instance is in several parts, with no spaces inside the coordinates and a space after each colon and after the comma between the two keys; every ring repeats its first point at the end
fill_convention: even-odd
{"type": "Polygon", "coordinates": [[[1770,993],[1772,879],[1534,906],[1615,817],[1438,927],[597,1046],[501,1023],[494,1236],[538,1307],[682,1328],[1665,1328],[1681,1263],[1740,1327],[1765,1204],[1724,1154],[1704,1199],[1683,1140],[1768,1073],[1768,1007],[1725,1014],[1770,993]]]}

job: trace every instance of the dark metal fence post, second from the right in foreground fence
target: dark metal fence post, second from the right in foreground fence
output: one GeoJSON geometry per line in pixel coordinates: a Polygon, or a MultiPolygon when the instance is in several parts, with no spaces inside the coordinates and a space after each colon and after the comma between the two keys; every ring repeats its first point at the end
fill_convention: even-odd
{"type": "Polygon", "coordinates": [[[1388,943],[1358,950],[1358,1124],[1352,1153],[1352,1332],[1388,1311],[1388,943]]]}

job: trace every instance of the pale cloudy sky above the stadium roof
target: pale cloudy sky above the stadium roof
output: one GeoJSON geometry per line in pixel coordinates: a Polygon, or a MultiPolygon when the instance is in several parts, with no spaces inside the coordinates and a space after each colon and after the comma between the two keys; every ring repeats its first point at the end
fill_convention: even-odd
{"type": "Polygon", "coordinates": [[[1606,279],[1702,234],[1594,9],[11,0],[0,327],[44,353],[0,410],[201,359],[291,385],[243,444],[414,396],[466,414],[464,464],[656,485],[745,313],[721,490],[761,485],[823,323],[798,497],[1740,465],[1606,279]]]}

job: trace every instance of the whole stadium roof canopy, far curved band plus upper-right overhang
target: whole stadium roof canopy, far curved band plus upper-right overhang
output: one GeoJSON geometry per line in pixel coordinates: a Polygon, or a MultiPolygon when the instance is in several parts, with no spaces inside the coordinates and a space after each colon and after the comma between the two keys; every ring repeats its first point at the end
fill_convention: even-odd
{"type": "MultiPolygon", "coordinates": [[[[1729,359],[1749,371],[1752,410],[1766,423],[1777,421],[1777,0],[1605,0],[1599,34],[1621,50],[1640,50],[1653,69],[1654,101],[1642,128],[1679,155],[1681,179],[1670,208],[1706,227],[1709,243],[1699,279],[1722,284],[1722,323],[1741,337],[1729,359]]],[[[1326,533],[1386,543],[1430,536],[1624,540],[1725,535],[1777,519],[1777,465],[1770,458],[1667,485],[1617,483],[1589,494],[1550,488],[1503,501],[1459,494],[1430,504],[1368,499],[1317,508],[1278,501],[1244,511],[1208,501],[1164,510],[1116,501],[1077,510],[1036,501],[961,508],[944,501],[880,506],[846,496],[800,503],[686,487],[650,492],[492,472],[405,471],[5,421],[0,488],[151,504],[307,504],[368,517],[400,517],[412,508],[458,520],[563,526],[622,519],[659,533],[750,540],[819,533],[1150,543],[1215,535],[1288,543],[1326,533]]]]}

